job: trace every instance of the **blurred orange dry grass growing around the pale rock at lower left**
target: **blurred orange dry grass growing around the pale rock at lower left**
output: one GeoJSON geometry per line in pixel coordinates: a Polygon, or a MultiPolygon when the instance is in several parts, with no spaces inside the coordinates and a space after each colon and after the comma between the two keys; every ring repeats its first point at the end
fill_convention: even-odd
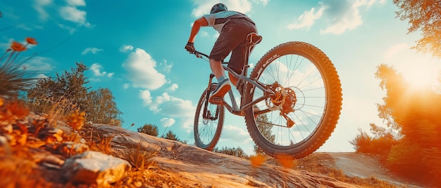
{"type": "MultiPolygon", "coordinates": [[[[93,126],[83,126],[82,113],[75,113],[75,111],[67,115],[70,119],[74,119],[68,125],[75,126],[75,128],[72,127],[73,130],[80,128],[78,131],[64,133],[59,137],[54,137],[54,135],[42,137],[44,131],[47,132],[48,128],[53,130],[51,128],[56,126],[55,119],[63,119],[54,117],[66,112],[61,113],[59,109],[63,108],[54,111],[51,116],[52,121],[48,119],[49,116],[32,119],[28,117],[30,113],[23,102],[5,100],[0,97],[0,161],[2,161],[0,163],[0,187],[94,187],[94,185],[66,184],[59,170],[47,168],[40,163],[41,159],[35,159],[35,156],[47,155],[48,152],[57,154],[55,148],[66,141],[79,143],[82,139],[80,133],[87,133],[90,138],[88,142],[90,148],[105,154],[112,153],[111,141],[114,136],[103,137],[97,134],[93,137],[93,126]]],[[[139,176],[139,173],[144,174],[154,166],[154,163],[147,163],[147,161],[156,152],[142,151],[141,145],[142,143],[139,143],[139,147],[127,150],[128,161],[137,167],[132,168],[130,172],[133,178],[139,176]]],[[[64,151],[63,156],[67,158],[72,154],[76,153],[64,151]]]]}

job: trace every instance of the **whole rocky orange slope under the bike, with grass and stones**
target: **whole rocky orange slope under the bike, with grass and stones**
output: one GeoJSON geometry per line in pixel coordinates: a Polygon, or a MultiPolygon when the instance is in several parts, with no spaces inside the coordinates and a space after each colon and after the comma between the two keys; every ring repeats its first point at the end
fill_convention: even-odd
{"type": "Polygon", "coordinates": [[[368,172],[378,163],[367,156],[318,153],[306,157],[313,162],[287,166],[278,159],[241,159],[115,126],[89,124],[73,130],[49,122],[35,115],[0,121],[0,187],[412,186],[383,177],[385,171],[368,172]],[[310,163],[368,177],[375,184],[312,173],[306,169],[310,163]]]}

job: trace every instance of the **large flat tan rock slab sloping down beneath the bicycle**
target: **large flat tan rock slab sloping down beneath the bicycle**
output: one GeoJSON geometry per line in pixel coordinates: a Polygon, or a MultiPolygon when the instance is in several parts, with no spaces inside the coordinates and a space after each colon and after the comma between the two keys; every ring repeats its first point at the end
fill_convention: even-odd
{"type": "MultiPolygon", "coordinates": [[[[325,175],[266,163],[254,168],[247,159],[209,152],[174,140],[135,133],[120,127],[94,124],[94,130],[99,135],[118,135],[118,139],[114,139],[111,145],[122,151],[130,149],[124,148],[127,142],[134,142],[130,145],[141,143],[142,148],[146,150],[158,148],[158,156],[151,160],[165,170],[168,177],[179,177],[180,184],[173,184],[175,187],[182,184],[185,184],[185,187],[358,187],[325,175]]],[[[170,184],[156,186],[173,187],[170,184]]]]}

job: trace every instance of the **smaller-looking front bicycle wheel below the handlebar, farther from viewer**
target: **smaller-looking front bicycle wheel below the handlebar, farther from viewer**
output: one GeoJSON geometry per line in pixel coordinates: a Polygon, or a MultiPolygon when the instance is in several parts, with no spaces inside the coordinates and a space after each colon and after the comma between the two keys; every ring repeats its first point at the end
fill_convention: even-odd
{"type": "MultiPolygon", "coordinates": [[[[211,86],[211,90],[216,84],[211,86]]],[[[223,105],[213,105],[208,102],[209,88],[204,90],[197,104],[194,115],[194,143],[197,147],[212,151],[221,137],[225,117],[223,105]]]]}

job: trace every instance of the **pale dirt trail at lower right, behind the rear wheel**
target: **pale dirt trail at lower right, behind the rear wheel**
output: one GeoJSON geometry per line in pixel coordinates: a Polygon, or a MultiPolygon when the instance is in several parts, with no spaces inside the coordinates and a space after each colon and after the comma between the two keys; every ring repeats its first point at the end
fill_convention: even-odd
{"type": "Polygon", "coordinates": [[[391,175],[387,169],[383,168],[379,161],[372,156],[356,154],[354,152],[325,153],[329,154],[334,163],[327,163],[335,169],[341,169],[344,174],[361,178],[376,177],[379,180],[385,180],[402,187],[420,187],[416,184],[399,180],[391,175]]]}

